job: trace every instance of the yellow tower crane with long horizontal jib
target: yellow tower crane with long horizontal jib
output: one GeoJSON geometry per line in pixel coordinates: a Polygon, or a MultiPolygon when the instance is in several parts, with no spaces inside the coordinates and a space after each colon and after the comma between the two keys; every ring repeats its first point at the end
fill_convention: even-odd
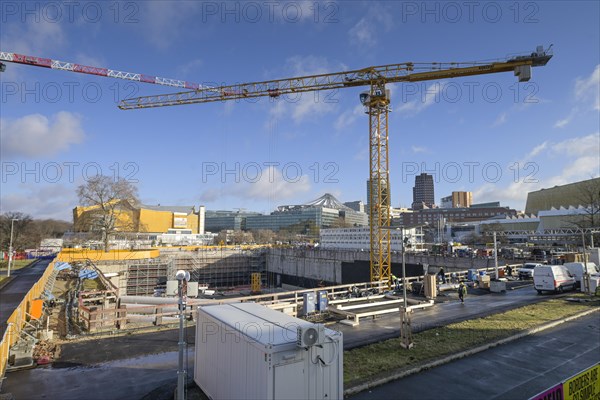
{"type": "MultiPolygon", "coordinates": [[[[119,103],[119,108],[130,110],[256,97],[279,98],[302,92],[368,86],[369,90],[361,93],[360,100],[365,107],[365,112],[369,115],[371,281],[387,281],[388,285],[391,285],[390,174],[388,162],[390,96],[389,92],[386,91],[386,84],[510,71],[514,72],[519,82],[526,82],[531,78],[531,67],[544,66],[550,58],[552,58],[550,48],[545,50],[543,46],[538,46],[533,53],[493,62],[409,62],[263,82],[194,87],[195,90],[192,91],[126,99],[119,103]]],[[[185,85],[185,87],[188,86],[185,85]]]]}

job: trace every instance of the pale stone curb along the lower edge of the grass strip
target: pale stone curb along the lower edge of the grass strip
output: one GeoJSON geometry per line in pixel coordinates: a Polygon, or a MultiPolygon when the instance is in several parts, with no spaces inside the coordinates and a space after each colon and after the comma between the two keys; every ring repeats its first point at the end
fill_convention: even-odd
{"type": "Polygon", "coordinates": [[[381,385],[384,385],[384,384],[389,383],[391,381],[395,381],[397,379],[405,378],[405,377],[407,377],[409,375],[418,374],[419,372],[425,371],[427,369],[435,368],[435,367],[438,367],[440,365],[447,364],[447,363],[449,363],[451,361],[458,360],[458,359],[461,359],[463,357],[471,356],[471,355],[476,354],[476,353],[480,353],[480,352],[488,350],[488,349],[490,349],[492,347],[496,347],[496,346],[499,346],[499,345],[511,342],[513,340],[521,339],[521,338],[523,338],[525,336],[529,336],[529,335],[532,335],[534,333],[538,333],[538,332],[544,331],[546,329],[554,328],[555,326],[558,326],[558,325],[560,325],[560,324],[562,324],[564,322],[569,322],[569,321],[572,321],[572,320],[577,319],[577,318],[585,317],[586,315],[592,314],[592,313],[594,313],[596,311],[600,311],[600,308],[592,308],[591,310],[582,311],[582,312],[580,312],[578,314],[571,315],[570,317],[565,317],[565,318],[562,318],[562,319],[559,319],[559,320],[556,320],[556,321],[548,322],[548,323],[540,325],[540,326],[536,326],[534,328],[529,328],[529,329],[527,329],[527,330],[525,330],[525,331],[523,331],[521,333],[517,333],[516,335],[509,336],[509,337],[506,337],[504,339],[499,339],[499,340],[496,340],[494,342],[491,342],[491,343],[488,343],[488,344],[484,344],[484,345],[481,345],[481,346],[478,346],[478,347],[474,347],[474,348],[469,349],[469,350],[461,351],[460,353],[451,354],[449,356],[442,357],[442,358],[440,358],[438,360],[422,364],[422,365],[420,365],[418,367],[414,367],[414,368],[411,368],[411,369],[406,370],[406,371],[392,372],[390,375],[385,376],[383,378],[375,379],[375,380],[372,380],[372,381],[369,381],[369,382],[366,382],[366,383],[363,383],[363,384],[360,384],[360,385],[356,385],[356,386],[350,387],[350,388],[344,390],[344,396],[354,395],[354,394],[357,394],[357,393],[362,392],[364,390],[371,389],[371,388],[374,388],[374,387],[377,387],[377,386],[381,386],[381,385]]]}

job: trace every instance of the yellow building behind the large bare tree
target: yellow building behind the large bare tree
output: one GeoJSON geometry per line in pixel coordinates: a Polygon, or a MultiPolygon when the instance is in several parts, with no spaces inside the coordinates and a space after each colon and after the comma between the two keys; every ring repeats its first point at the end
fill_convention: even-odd
{"type": "MultiPolygon", "coordinates": [[[[204,206],[149,206],[131,204],[120,200],[112,203],[115,229],[119,232],[167,233],[188,230],[190,233],[204,234],[204,206]]],[[[73,224],[78,231],[98,230],[94,221],[98,220],[98,206],[73,209],[73,224]]]]}

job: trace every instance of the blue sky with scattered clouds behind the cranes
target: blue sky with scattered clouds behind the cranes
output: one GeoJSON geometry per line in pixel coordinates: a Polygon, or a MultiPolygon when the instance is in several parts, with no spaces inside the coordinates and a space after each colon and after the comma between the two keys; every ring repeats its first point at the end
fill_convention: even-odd
{"type": "MultiPolygon", "coordinates": [[[[198,83],[401,62],[478,61],[553,44],[511,73],[390,85],[391,192],[414,175],[524,209],[527,192],[600,175],[600,8],[571,2],[3,2],[0,49],[198,83]]],[[[175,88],[7,63],[0,74],[1,212],[71,219],[96,171],[147,204],[270,212],[325,192],[366,202],[362,89],[298,101],[121,111],[175,88]]]]}

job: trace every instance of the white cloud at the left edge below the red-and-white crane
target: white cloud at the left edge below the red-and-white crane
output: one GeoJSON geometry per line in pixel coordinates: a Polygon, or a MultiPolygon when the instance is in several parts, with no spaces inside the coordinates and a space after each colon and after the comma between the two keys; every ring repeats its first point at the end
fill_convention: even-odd
{"type": "Polygon", "coordinates": [[[50,119],[29,114],[16,120],[0,119],[3,157],[43,157],[68,150],[81,143],[85,133],[81,117],[61,111],[50,119]]]}

